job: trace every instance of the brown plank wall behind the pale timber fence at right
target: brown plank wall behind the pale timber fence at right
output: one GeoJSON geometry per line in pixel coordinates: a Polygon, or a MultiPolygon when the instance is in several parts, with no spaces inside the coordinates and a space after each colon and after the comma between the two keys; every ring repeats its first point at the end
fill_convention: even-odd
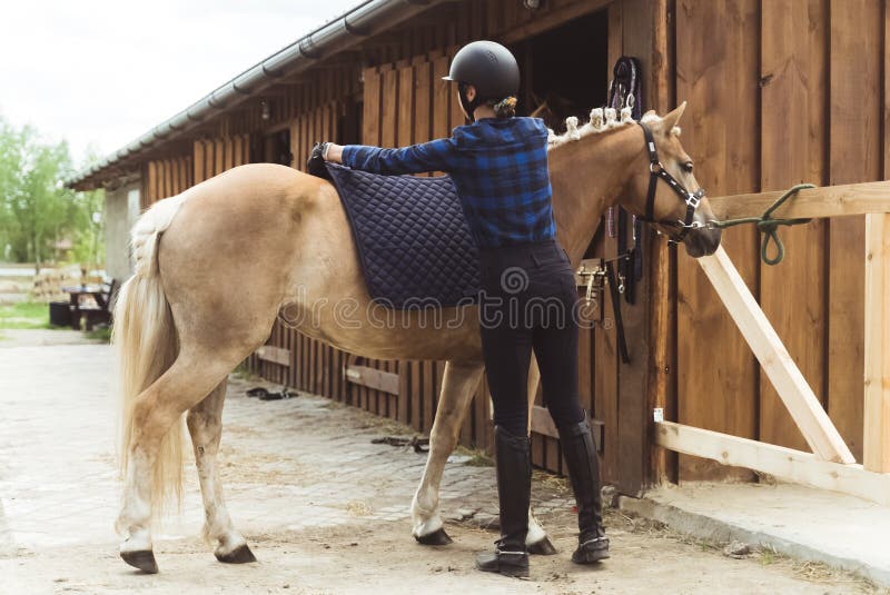
{"type": "MultiPolygon", "coordinates": [[[[683,143],[709,194],[880,179],[888,18],[881,0],[678,0],[676,96],[690,102],[683,143]],[[710,34],[698,34],[703,30],[710,34]]],[[[777,267],[761,264],[754,230],[724,238],[861,459],[863,218],[782,230],[787,257],[777,267]]],[[[683,255],[676,309],[678,420],[804,447],[704,275],[683,255]]],[[[728,476],[750,474],[681,457],[681,479],[728,476]]]]}

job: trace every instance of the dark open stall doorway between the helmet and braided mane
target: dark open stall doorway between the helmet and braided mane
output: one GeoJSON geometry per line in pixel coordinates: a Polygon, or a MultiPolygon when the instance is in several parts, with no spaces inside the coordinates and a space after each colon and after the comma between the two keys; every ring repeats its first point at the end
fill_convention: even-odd
{"type": "Polygon", "coordinates": [[[565,131],[565,118],[585,122],[592,108],[605,106],[609,89],[609,12],[601,10],[517,44],[523,72],[521,113],[540,113],[556,132],[565,131]]]}

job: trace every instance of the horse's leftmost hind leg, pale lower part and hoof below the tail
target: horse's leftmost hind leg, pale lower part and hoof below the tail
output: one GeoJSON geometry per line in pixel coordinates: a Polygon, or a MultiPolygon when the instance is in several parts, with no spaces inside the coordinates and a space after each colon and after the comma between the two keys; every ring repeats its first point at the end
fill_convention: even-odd
{"type": "Polygon", "coordinates": [[[159,492],[160,478],[155,476],[154,469],[161,439],[187,409],[196,406],[226,378],[238,361],[184,349],[172,366],[136,398],[129,443],[130,463],[123,506],[117,523],[128,534],[120,546],[120,556],[127,564],[147,573],[158,572],[150,524],[152,505],[159,504],[155,495],[159,492]]]}

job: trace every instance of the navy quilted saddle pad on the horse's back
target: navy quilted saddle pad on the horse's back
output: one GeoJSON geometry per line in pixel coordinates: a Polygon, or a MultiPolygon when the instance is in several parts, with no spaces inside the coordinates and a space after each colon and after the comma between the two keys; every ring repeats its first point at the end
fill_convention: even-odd
{"type": "Polygon", "coordinates": [[[449,177],[380,176],[326,166],[375,301],[411,309],[476,300],[478,249],[449,177]]]}

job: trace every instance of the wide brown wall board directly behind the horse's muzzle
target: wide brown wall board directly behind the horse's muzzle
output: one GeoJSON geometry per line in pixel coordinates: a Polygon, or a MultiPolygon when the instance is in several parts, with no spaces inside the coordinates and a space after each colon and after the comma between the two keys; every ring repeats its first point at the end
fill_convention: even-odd
{"type": "MultiPolygon", "coordinates": [[[[676,95],[689,100],[683,145],[712,195],[758,190],[759,8],[756,0],[676,3],[676,95]]],[[[722,244],[756,295],[756,231],[724,231],[722,244]]],[[[754,357],[698,264],[682,254],[678,260],[679,420],[756,438],[754,357]],[[703,345],[710,346],[706,364],[703,345]]],[[[681,479],[725,476],[751,473],[680,459],[681,479]]]]}

